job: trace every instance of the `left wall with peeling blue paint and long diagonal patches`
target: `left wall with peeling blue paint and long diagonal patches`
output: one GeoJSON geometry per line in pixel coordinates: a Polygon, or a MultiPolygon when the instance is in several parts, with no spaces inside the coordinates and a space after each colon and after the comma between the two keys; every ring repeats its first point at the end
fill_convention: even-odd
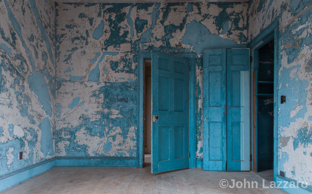
{"type": "Polygon", "coordinates": [[[56,72],[54,4],[0,0],[0,14],[1,176],[55,156],[56,72]]]}

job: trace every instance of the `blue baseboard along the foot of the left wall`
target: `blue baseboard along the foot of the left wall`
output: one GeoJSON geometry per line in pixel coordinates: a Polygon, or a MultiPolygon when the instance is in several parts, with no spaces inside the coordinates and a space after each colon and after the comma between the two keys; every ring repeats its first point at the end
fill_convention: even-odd
{"type": "Polygon", "coordinates": [[[55,157],[28,167],[24,167],[6,175],[2,175],[0,177],[0,191],[46,172],[53,167],[55,167],[55,157]]]}

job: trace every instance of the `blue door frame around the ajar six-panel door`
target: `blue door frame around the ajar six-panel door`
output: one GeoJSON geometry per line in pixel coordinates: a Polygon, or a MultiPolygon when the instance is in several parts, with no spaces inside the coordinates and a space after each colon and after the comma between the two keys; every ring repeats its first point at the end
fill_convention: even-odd
{"type": "MultiPolygon", "coordinates": [[[[195,97],[195,87],[196,87],[196,64],[195,56],[193,52],[166,52],[179,57],[189,58],[190,62],[190,110],[189,110],[189,149],[190,149],[190,168],[196,168],[195,154],[196,154],[196,134],[195,134],[195,111],[196,111],[196,97],[195,97]]],[[[139,133],[137,134],[137,160],[138,167],[143,167],[143,77],[144,77],[144,59],[151,59],[151,52],[140,51],[138,53],[138,126],[139,133]]]]}

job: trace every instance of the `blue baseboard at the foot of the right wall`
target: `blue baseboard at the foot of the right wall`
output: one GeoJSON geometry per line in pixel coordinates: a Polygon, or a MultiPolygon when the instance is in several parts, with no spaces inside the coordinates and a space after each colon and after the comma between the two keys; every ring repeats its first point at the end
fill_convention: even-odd
{"type": "Polygon", "coordinates": [[[290,186],[290,182],[295,182],[295,180],[292,180],[292,179],[289,179],[289,178],[286,178],[286,177],[281,177],[280,175],[277,175],[276,176],[276,181],[277,183],[278,182],[282,182],[281,186],[282,190],[284,190],[285,192],[287,193],[290,193],[290,194],[311,194],[312,193],[312,187],[311,186],[308,186],[305,188],[304,185],[301,185],[300,183],[298,184],[298,187],[297,188],[283,188],[283,186],[286,186],[286,187],[289,187],[290,186]]]}

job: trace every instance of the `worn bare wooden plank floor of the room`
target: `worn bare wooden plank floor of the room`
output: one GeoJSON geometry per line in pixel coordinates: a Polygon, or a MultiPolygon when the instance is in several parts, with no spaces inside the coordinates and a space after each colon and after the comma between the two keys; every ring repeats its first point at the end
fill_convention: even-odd
{"type": "MultiPolygon", "coordinates": [[[[22,193],[284,193],[279,189],[262,188],[262,179],[253,172],[212,172],[201,169],[151,175],[144,168],[81,168],[55,167],[29,179],[4,194],[22,193]],[[259,188],[225,188],[220,180],[257,181],[259,188]]],[[[268,182],[266,183],[268,186],[268,182]]]]}

